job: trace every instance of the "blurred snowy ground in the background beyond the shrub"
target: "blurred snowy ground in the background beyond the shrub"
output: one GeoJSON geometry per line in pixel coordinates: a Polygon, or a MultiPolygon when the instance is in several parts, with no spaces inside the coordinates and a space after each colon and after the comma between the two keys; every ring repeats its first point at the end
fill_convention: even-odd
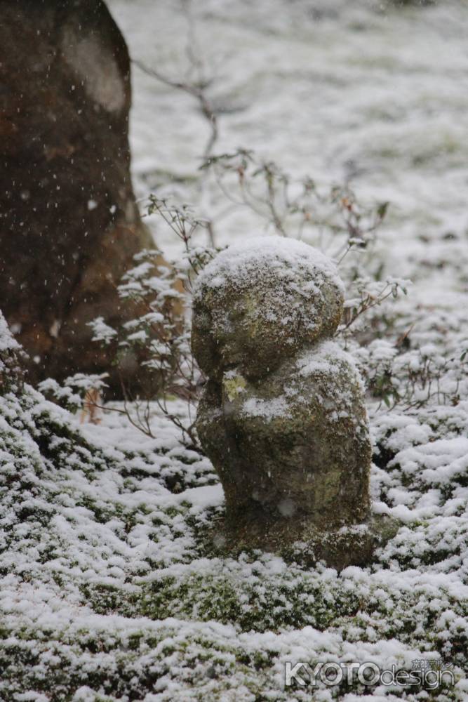
{"type": "MultiPolygon", "coordinates": [[[[386,233],[389,256],[404,265],[399,274],[413,273],[433,247],[439,255],[441,246],[457,246],[444,234],[466,234],[466,2],[112,0],[110,7],[132,57],[166,77],[197,76],[192,47],[201,74],[213,79],[215,152],[254,149],[295,175],[350,179],[362,197],[391,201],[386,233]]],[[[208,131],[194,98],[134,67],[138,197],[171,178],[193,178],[208,131]]],[[[220,243],[253,226],[246,216],[230,221],[220,243]]]]}

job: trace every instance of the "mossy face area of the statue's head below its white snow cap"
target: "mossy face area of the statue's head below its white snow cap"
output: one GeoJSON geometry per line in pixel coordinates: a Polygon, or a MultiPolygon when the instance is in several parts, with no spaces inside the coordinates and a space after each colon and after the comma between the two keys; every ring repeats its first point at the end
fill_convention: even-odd
{"type": "Polygon", "coordinates": [[[307,279],[285,284],[257,277],[241,289],[208,290],[194,305],[194,355],[208,376],[238,367],[248,378],[262,378],[331,336],[341,311],[339,291],[329,283],[310,287],[307,279]]]}

